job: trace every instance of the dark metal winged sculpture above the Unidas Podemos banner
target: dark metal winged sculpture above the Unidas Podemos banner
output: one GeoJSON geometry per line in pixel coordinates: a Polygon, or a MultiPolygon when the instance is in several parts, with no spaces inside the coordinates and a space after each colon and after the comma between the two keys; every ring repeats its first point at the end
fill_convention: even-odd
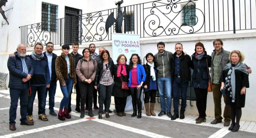
{"type": "Polygon", "coordinates": [[[114,18],[114,12],[112,12],[107,20],[106,20],[106,24],[105,24],[105,29],[106,32],[108,34],[108,29],[114,24],[115,24],[115,31],[116,33],[122,33],[122,22],[123,22],[123,18],[124,18],[124,14],[125,12],[122,13],[121,11],[121,4],[124,2],[124,0],[118,1],[116,2],[116,5],[118,6],[118,10],[117,10],[117,18],[114,18]]]}

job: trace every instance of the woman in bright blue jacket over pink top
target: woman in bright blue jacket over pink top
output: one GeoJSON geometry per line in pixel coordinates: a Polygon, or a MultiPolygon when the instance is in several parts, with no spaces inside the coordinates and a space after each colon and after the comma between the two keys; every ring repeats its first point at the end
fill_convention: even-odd
{"type": "Polygon", "coordinates": [[[129,65],[130,65],[130,71],[129,71],[130,79],[129,79],[128,87],[132,95],[132,107],[133,107],[132,117],[137,115],[137,107],[138,107],[137,118],[141,118],[142,102],[140,100],[140,97],[142,92],[142,84],[146,80],[146,73],[145,73],[144,67],[141,65],[141,59],[138,54],[132,54],[129,65]]]}

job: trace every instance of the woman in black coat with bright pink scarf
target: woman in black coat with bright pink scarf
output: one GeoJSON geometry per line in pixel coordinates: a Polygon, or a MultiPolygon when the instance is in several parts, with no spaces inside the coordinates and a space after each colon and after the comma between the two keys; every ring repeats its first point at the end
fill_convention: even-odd
{"type": "Polygon", "coordinates": [[[124,54],[119,55],[116,62],[117,64],[113,67],[114,87],[112,96],[114,96],[117,115],[126,116],[124,108],[130,91],[122,89],[122,81],[129,81],[130,66],[126,64],[127,58],[124,54]]]}

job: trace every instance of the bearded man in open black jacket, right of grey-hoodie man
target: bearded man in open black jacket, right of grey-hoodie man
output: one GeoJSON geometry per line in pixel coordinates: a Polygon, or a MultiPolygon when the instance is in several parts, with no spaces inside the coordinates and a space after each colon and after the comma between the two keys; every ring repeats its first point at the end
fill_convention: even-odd
{"type": "Polygon", "coordinates": [[[172,92],[173,92],[173,106],[174,115],[171,120],[179,118],[179,103],[181,94],[181,108],[180,108],[180,119],[184,119],[184,112],[187,101],[187,88],[188,82],[190,81],[190,67],[192,61],[189,55],[184,55],[183,47],[181,43],[175,44],[175,53],[172,55],[174,59],[174,71],[172,81],[172,92]]]}

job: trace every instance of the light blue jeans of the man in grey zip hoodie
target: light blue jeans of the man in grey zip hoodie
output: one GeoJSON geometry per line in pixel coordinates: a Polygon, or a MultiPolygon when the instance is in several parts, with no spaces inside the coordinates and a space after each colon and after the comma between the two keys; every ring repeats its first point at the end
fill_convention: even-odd
{"type": "Polygon", "coordinates": [[[172,78],[158,77],[157,84],[160,95],[161,110],[165,112],[166,109],[166,112],[170,112],[172,104],[172,78]],[[166,95],[166,104],[164,94],[166,95]]]}

